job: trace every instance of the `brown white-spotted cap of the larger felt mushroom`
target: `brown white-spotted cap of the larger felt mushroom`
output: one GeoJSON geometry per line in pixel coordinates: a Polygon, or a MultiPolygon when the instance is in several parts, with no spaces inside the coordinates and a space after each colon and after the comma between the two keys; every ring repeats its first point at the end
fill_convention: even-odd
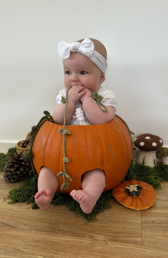
{"type": "Polygon", "coordinates": [[[155,151],[163,146],[163,140],[157,135],[144,133],[135,138],[134,145],[140,150],[155,151]]]}

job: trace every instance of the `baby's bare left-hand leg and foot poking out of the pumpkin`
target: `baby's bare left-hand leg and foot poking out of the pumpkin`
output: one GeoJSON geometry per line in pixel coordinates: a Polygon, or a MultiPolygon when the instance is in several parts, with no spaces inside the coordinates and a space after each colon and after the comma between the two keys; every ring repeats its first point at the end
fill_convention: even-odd
{"type": "Polygon", "coordinates": [[[49,209],[58,185],[59,180],[54,172],[48,167],[42,167],[38,178],[38,192],[34,197],[36,204],[43,211],[49,209]]]}

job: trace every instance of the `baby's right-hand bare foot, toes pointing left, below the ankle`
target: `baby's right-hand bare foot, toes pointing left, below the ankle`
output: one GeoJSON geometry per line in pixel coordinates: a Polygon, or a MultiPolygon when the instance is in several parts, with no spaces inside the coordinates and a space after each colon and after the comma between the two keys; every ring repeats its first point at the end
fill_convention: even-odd
{"type": "Polygon", "coordinates": [[[83,212],[87,214],[92,212],[96,202],[94,202],[89,192],[83,190],[73,190],[70,195],[80,204],[83,212]]]}

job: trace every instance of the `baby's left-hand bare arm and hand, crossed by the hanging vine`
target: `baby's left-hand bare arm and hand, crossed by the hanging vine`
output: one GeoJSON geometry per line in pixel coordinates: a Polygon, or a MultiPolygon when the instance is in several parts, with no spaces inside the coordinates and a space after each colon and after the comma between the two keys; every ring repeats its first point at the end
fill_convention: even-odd
{"type": "MultiPolygon", "coordinates": [[[[66,112],[66,125],[69,124],[73,113],[75,111],[76,103],[79,101],[80,97],[86,94],[85,86],[74,85],[68,91],[68,104],[66,112]],[[82,91],[83,90],[83,91],[82,91]],[[81,92],[82,91],[82,92],[81,92]]],[[[58,104],[52,114],[52,117],[59,125],[64,124],[64,113],[65,113],[65,103],[58,104]]]]}

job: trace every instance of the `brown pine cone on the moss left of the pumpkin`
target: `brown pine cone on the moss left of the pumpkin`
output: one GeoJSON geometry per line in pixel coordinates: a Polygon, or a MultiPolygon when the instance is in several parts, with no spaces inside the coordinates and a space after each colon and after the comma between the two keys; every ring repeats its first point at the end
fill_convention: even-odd
{"type": "Polygon", "coordinates": [[[3,177],[5,180],[13,183],[26,178],[31,166],[29,161],[25,161],[22,158],[22,152],[20,154],[15,153],[8,157],[8,159],[8,161],[5,161],[6,166],[3,169],[3,177]]]}

